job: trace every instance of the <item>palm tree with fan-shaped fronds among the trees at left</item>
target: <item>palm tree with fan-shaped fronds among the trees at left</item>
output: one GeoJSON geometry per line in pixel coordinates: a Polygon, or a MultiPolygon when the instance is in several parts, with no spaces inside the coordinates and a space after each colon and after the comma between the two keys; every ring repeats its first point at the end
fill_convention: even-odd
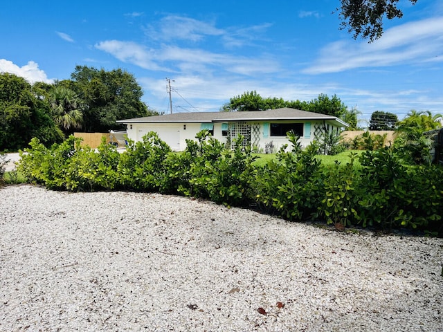
{"type": "Polygon", "coordinates": [[[55,123],[64,131],[82,127],[83,112],[74,91],[64,86],[55,86],[49,93],[49,103],[55,123]]]}

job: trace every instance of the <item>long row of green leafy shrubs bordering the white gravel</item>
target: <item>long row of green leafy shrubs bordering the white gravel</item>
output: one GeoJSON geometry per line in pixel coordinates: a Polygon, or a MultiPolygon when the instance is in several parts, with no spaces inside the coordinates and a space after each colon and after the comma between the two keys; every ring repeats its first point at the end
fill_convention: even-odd
{"type": "Polygon", "coordinates": [[[256,157],[242,137],[230,150],[208,131],[187,140],[181,153],[154,132],[141,142],[129,141],[123,154],[105,142],[97,151],[80,147],[72,136],[50,149],[33,139],[26,154],[21,151],[19,171],[30,183],[54,190],[182,194],[337,228],[442,232],[442,167],[404,165],[390,147],[366,151],[361,167],[354,167],[356,155],[346,165],[325,166],[315,158],[315,143],[302,149],[298,138],[288,135],[292,148],[282,147],[264,166],[253,163],[256,157]]]}

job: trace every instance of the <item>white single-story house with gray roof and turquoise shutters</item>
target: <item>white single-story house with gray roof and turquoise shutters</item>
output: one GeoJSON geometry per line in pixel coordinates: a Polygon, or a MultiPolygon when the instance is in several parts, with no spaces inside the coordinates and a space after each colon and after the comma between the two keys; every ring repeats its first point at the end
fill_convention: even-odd
{"type": "Polygon", "coordinates": [[[245,144],[265,151],[271,145],[274,149],[280,149],[287,144],[286,133],[289,130],[300,136],[302,146],[307,146],[312,140],[318,140],[324,132],[338,134],[341,129],[348,127],[346,122],[335,116],[290,108],[173,113],[117,122],[126,124],[129,139],[138,141],[148,132],[155,131],[174,151],[183,151],[186,140],[195,139],[195,135],[203,129],[225,143],[232,143],[241,134],[245,137],[245,144]]]}

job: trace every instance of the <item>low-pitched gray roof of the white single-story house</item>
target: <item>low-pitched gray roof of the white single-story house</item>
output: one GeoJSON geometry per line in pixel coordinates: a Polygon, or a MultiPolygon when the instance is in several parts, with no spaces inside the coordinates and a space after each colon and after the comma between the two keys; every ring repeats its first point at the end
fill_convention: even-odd
{"type": "Polygon", "coordinates": [[[337,127],[349,125],[335,116],[326,114],[301,111],[300,109],[268,109],[267,111],[244,111],[244,112],[192,112],[173,113],[163,116],[147,116],[118,120],[118,123],[183,123],[183,122],[231,122],[231,121],[272,121],[272,120],[325,120],[334,122],[337,127]]]}

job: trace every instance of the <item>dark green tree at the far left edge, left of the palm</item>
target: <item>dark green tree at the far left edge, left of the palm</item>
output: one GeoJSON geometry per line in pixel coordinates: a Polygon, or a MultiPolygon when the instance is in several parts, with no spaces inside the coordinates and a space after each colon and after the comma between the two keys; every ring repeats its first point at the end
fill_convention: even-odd
{"type": "Polygon", "coordinates": [[[10,73],[0,73],[0,124],[0,151],[24,149],[33,137],[46,145],[63,139],[41,86],[10,73]]]}

